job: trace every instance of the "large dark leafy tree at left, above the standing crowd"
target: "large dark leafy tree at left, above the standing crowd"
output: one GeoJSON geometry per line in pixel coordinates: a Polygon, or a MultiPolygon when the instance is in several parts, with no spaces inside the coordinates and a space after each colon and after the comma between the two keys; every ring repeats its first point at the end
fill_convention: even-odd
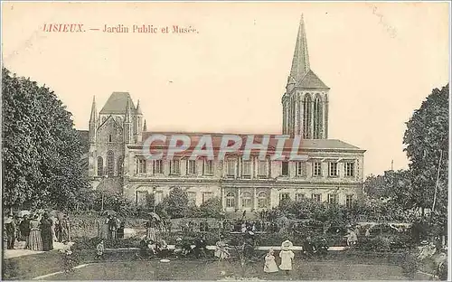
{"type": "Polygon", "coordinates": [[[5,208],[75,208],[88,187],[71,113],[47,87],[2,69],[5,208]]]}

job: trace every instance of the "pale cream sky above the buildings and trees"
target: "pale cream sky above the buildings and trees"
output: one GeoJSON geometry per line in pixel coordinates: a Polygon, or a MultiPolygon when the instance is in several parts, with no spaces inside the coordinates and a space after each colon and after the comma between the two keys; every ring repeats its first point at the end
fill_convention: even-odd
{"type": "Polygon", "coordinates": [[[147,129],[278,134],[304,14],[311,69],[331,88],[329,137],[364,174],[406,168],[405,122],[449,79],[447,3],[2,3],[4,65],[46,84],[87,129],[128,91],[147,129]],[[44,33],[43,24],[174,24],[199,33],[44,33]],[[173,81],[170,83],[169,81],[173,81]]]}

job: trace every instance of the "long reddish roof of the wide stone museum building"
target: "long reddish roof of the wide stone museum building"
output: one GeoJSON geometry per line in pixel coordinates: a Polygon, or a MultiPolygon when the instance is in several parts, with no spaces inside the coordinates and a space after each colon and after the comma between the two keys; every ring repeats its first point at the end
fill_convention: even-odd
{"type": "MultiPolygon", "coordinates": [[[[185,132],[150,132],[146,131],[143,132],[143,142],[146,141],[146,139],[153,135],[153,134],[159,134],[166,136],[165,146],[169,145],[170,136],[173,135],[184,135],[184,136],[190,136],[191,139],[191,146],[196,146],[198,144],[201,136],[212,136],[212,146],[214,148],[219,148],[221,146],[221,137],[227,136],[227,135],[234,135],[234,136],[240,136],[242,138],[242,147],[243,148],[246,144],[246,139],[250,135],[254,135],[254,143],[259,143],[259,140],[262,140],[262,136],[270,136],[269,144],[268,144],[268,150],[274,150],[277,147],[278,140],[275,138],[277,135],[263,135],[263,134],[229,134],[229,133],[185,133],[185,132]]],[[[158,146],[162,146],[163,144],[161,142],[155,141],[155,143],[159,143],[158,146]]],[[[287,138],[287,141],[285,143],[285,150],[289,150],[292,148],[292,144],[294,143],[294,138],[287,138]]],[[[154,144],[154,143],[153,143],[154,144]]],[[[351,144],[345,143],[344,141],[338,140],[338,139],[303,139],[300,142],[300,149],[307,149],[307,150],[344,150],[344,151],[355,151],[355,152],[364,152],[365,150],[353,146],[351,144]]]]}

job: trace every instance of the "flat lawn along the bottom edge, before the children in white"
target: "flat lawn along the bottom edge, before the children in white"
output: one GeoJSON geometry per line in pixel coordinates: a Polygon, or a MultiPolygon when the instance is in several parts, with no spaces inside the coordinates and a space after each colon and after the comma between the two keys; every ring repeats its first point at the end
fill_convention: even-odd
{"type": "MultiPolygon", "coordinates": [[[[201,260],[104,262],[76,269],[69,274],[48,277],[49,280],[218,280],[239,277],[238,264],[201,260]],[[224,271],[224,274],[221,274],[224,271]]],[[[295,261],[288,275],[263,272],[263,263],[253,263],[246,277],[265,280],[406,280],[400,267],[391,265],[348,264],[344,261],[295,261]]],[[[424,277],[425,278],[425,277],[424,277]]]]}

